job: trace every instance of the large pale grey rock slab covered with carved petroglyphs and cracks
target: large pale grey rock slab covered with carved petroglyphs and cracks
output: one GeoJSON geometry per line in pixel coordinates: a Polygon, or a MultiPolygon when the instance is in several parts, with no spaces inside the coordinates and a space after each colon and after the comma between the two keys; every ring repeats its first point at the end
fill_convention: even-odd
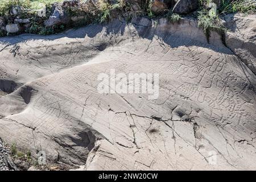
{"type": "Polygon", "coordinates": [[[256,76],[195,19],[0,39],[0,138],[82,170],[256,169],[256,76]],[[100,73],[159,73],[159,97],[100,73]]]}

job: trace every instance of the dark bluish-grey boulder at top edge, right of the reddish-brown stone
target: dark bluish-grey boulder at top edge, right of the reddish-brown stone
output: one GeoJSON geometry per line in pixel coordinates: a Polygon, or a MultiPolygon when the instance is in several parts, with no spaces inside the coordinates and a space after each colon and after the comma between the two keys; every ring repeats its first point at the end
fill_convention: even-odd
{"type": "Polygon", "coordinates": [[[177,14],[188,14],[198,8],[197,0],[179,0],[174,6],[174,13],[177,14]]]}

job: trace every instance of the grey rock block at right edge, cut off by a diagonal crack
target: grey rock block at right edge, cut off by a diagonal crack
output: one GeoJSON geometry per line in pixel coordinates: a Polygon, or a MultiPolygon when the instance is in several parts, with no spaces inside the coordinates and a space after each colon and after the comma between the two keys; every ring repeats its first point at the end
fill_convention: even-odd
{"type": "Polygon", "coordinates": [[[229,14],[223,17],[226,45],[256,74],[256,15],[229,14]]]}

